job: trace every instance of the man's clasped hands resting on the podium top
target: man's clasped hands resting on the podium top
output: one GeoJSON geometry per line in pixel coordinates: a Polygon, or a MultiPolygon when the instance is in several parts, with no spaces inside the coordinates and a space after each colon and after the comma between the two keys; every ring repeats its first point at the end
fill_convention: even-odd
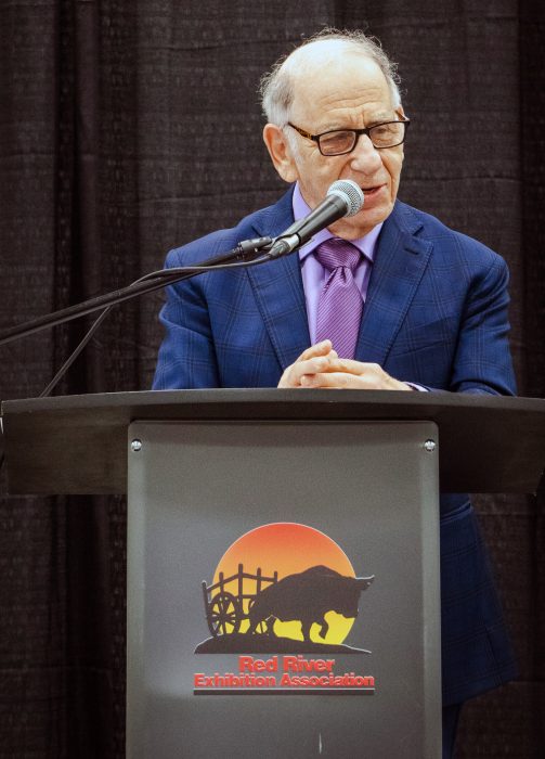
{"type": "Polygon", "coordinates": [[[412,390],[378,363],[339,359],[330,340],[307,348],[286,369],[278,387],[324,387],[353,390],[412,390]]]}

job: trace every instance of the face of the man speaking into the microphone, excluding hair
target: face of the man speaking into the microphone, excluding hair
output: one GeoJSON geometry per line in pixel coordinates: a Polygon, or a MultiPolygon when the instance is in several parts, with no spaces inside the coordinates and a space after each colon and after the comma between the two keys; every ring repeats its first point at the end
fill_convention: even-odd
{"type": "MultiPolygon", "coordinates": [[[[361,129],[400,118],[390,89],[376,63],[362,55],[345,53],[327,66],[309,67],[295,83],[289,120],[297,127],[321,134],[332,129],[361,129]]],[[[268,125],[270,126],[270,125],[268,125]]],[[[376,150],[366,134],[361,134],[352,153],[323,156],[317,144],[286,126],[273,128],[264,139],[278,173],[289,182],[299,181],[302,196],[311,208],[321,203],[337,179],[351,179],[365,196],[363,208],[352,217],[339,219],[329,228],[346,240],[369,232],[391,213],[398,194],[403,145],[376,150]],[[276,129],[276,132],[274,132],[276,129]],[[297,150],[286,139],[291,130],[297,150]],[[275,144],[271,144],[271,140],[275,144]]]]}

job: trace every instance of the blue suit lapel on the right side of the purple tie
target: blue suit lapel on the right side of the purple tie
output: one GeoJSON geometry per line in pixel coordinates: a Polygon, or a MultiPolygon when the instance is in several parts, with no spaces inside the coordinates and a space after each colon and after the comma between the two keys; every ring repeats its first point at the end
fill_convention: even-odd
{"type": "Polygon", "coordinates": [[[420,228],[421,222],[399,202],[385,221],[355,350],[359,361],[384,365],[388,357],[433,247],[415,235],[420,228]]]}

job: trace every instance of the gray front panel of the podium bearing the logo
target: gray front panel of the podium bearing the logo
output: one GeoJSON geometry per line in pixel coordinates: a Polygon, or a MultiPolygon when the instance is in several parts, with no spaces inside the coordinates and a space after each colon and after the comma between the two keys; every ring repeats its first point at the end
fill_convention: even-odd
{"type": "Polygon", "coordinates": [[[130,425],[130,759],[441,756],[437,439],[130,425]]]}

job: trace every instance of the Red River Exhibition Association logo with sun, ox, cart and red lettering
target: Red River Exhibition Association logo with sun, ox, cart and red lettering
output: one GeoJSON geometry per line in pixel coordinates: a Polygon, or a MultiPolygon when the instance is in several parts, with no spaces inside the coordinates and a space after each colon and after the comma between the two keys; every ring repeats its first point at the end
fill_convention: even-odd
{"type": "Polygon", "coordinates": [[[195,648],[237,655],[236,666],[196,672],[194,694],[374,694],[374,677],[336,667],[339,655],[371,654],[345,641],[374,579],[356,577],[342,549],[307,525],[246,532],[203,582],[210,636],[195,648]]]}

